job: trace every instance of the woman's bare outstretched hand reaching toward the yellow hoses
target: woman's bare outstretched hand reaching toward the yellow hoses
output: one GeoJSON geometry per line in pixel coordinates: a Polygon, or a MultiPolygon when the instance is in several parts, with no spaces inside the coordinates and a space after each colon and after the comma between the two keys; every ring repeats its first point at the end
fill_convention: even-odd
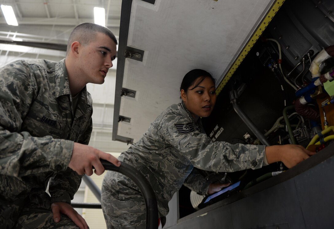
{"type": "Polygon", "coordinates": [[[267,146],[265,153],[269,164],[282,161],[288,168],[315,154],[300,145],[267,146]]]}

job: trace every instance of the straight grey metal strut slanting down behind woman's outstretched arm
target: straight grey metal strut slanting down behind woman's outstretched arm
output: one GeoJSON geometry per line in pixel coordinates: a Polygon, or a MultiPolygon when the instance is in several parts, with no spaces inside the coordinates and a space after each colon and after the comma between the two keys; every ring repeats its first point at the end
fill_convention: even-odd
{"type": "Polygon", "coordinates": [[[230,100],[233,105],[233,108],[237,115],[240,117],[240,119],[247,125],[249,129],[255,134],[255,136],[264,144],[265,146],[270,146],[269,141],[267,138],[259,131],[259,129],[255,126],[255,124],[248,118],[248,116],[241,110],[239,105],[237,104],[237,97],[235,90],[230,91],[230,100]]]}

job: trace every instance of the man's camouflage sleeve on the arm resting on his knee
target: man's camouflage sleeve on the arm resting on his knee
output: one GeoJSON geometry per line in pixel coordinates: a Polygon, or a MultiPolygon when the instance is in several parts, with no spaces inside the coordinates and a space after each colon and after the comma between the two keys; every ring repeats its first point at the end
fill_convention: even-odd
{"type": "MultiPolygon", "coordinates": [[[[93,111],[92,111],[93,112],[93,111]]],[[[92,117],[92,113],[91,113],[92,117]]],[[[84,134],[80,137],[78,143],[88,145],[91,138],[93,123],[92,118],[88,122],[87,128],[84,134]]],[[[72,169],[68,168],[65,171],[56,173],[49,183],[49,193],[51,195],[51,202],[65,202],[67,204],[71,203],[74,194],[77,192],[80,183],[81,175],[78,175],[72,169]],[[61,187],[61,188],[59,188],[61,187]]]]}

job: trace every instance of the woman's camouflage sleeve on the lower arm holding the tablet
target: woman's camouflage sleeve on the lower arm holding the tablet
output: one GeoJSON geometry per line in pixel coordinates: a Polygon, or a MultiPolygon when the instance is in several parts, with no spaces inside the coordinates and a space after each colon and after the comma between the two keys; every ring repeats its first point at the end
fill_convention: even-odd
{"type": "Polygon", "coordinates": [[[206,195],[210,182],[205,179],[198,169],[194,168],[183,184],[199,195],[206,195]]]}

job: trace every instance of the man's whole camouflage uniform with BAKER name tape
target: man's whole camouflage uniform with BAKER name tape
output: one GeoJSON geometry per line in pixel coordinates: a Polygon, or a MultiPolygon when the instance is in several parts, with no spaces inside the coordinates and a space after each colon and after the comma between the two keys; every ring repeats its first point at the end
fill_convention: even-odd
{"type": "MultiPolygon", "coordinates": [[[[0,228],[54,228],[51,203],[73,199],[81,182],[67,168],[73,142],[88,144],[92,132],[91,95],[85,87],[79,96],[73,114],[65,60],[0,69],[0,228]]],[[[64,217],[56,226],[77,228],[64,217]]]]}

